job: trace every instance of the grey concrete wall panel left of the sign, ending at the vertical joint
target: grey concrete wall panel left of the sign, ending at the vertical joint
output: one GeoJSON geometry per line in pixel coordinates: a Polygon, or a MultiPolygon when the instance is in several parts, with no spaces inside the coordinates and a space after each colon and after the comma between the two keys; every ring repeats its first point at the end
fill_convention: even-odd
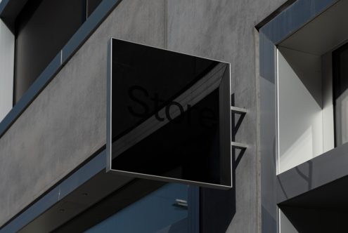
{"type": "Polygon", "coordinates": [[[105,145],[111,36],[163,47],[165,1],[122,1],[2,136],[0,226],[105,145]]]}

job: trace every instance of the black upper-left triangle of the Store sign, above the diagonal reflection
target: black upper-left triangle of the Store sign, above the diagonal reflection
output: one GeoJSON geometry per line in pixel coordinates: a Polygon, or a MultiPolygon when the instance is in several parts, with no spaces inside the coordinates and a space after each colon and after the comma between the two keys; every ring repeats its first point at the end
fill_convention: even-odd
{"type": "MultiPolygon", "coordinates": [[[[112,44],[112,140],[148,119],[217,62],[127,41],[112,44]]],[[[185,106],[183,106],[185,107],[185,106]]],[[[162,117],[161,117],[162,118],[162,117]]]]}

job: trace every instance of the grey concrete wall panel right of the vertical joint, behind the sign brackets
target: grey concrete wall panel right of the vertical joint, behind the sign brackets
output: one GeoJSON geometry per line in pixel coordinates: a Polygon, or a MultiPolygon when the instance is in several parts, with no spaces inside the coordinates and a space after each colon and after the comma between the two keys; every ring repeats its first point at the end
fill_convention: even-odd
{"type": "MultiPolygon", "coordinates": [[[[225,229],[227,232],[261,232],[256,111],[259,48],[254,26],[284,3],[284,0],[168,1],[168,48],[231,62],[231,93],[235,94],[235,105],[249,111],[236,135],[237,142],[250,147],[235,171],[236,206],[230,200],[225,201],[231,205],[231,210],[224,213],[233,213],[232,209],[236,208],[231,224],[225,229]]],[[[205,189],[203,195],[204,192],[210,197],[206,201],[218,206],[218,199],[223,197],[220,192],[214,194],[205,189]]],[[[224,214],[219,213],[217,207],[203,210],[203,218],[212,222],[205,225],[203,232],[214,232],[217,224],[224,224],[219,222],[224,214]]]]}

